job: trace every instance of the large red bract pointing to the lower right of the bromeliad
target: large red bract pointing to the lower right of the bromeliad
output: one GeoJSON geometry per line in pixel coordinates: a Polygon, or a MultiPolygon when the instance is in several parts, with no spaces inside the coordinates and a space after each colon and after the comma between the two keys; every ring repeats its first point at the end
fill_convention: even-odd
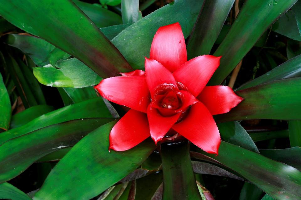
{"type": "Polygon", "coordinates": [[[218,154],[219,129],[203,103],[194,104],[187,117],[182,122],[174,124],[172,129],[205,152],[218,154]]]}

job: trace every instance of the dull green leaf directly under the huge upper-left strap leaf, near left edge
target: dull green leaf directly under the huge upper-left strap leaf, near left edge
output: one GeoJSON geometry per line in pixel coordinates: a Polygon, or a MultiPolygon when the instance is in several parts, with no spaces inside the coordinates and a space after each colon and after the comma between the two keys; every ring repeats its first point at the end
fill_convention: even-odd
{"type": "Polygon", "coordinates": [[[41,38],[25,34],[8,34],[6,43],[20,49],[38,66],[49,64],[49,54],[55,48],[55,46],[41,38]]]}

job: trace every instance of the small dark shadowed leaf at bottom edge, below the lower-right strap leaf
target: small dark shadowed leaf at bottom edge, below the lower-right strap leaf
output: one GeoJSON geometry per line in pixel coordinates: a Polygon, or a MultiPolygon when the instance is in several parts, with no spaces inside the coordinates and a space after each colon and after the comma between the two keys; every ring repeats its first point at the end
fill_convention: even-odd
{"type": "Polygon", "coordinates": [[[262,190],[251,183],[244,183],[239,195],[239,200],[260,200],[262,190]]]}

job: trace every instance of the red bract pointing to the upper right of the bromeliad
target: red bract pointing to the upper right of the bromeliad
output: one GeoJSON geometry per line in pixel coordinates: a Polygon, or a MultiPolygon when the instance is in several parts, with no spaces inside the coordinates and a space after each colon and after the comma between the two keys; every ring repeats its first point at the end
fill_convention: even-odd
{"type": "Polygon", "coordinates": [[[188,91],[196,97],[219,67],[220,58],[221,56],[198,56],[181,65],[173,73],[173,76],[177,82],[183,83],[188,91]]]}

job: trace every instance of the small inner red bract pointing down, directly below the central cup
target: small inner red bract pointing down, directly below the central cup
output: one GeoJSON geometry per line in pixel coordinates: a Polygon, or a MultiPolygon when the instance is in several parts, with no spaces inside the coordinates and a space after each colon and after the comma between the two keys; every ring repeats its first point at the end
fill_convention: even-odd
{"type": "Polygon", "coordinates": [[[157,143],[169,129],[177,122],[181,113],[177,113],[170,117],[163,117],[158,113],[156,108],[152,108],[151,105],[147,108],[147,118],[150,125],[150,136],[157,143]]]}

